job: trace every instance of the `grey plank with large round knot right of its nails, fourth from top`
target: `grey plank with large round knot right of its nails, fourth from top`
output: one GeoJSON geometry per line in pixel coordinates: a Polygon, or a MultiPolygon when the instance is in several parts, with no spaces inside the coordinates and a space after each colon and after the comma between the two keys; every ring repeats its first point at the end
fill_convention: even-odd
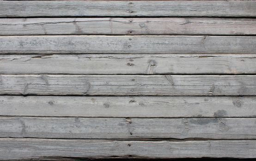
{"type": "Polygon", "coordinates": [[[254,54],[2,54],[0,74],[256,74],[256,56],[254,54]]]}

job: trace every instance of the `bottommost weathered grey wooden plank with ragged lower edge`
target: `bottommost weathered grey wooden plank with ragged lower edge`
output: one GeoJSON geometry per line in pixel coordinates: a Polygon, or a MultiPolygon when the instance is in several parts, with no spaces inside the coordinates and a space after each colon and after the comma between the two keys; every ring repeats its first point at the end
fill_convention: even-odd
{"type": "Polygon", "coordinates": [[[0,138],[0,160],[75,158],[255,158],[256,140],[116,141],[0,138]],[[129,146],[130,145],[130,146],[129,146]]]}

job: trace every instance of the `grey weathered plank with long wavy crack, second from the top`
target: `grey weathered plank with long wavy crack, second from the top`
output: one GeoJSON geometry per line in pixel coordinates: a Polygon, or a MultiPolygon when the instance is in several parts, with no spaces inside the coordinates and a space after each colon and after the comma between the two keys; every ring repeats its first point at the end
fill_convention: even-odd
{"type": "Polygon", "coordinates": [[[255,28],[256,19],[245,18],[0,19],[0,35],[256,35],[255,28]]]}

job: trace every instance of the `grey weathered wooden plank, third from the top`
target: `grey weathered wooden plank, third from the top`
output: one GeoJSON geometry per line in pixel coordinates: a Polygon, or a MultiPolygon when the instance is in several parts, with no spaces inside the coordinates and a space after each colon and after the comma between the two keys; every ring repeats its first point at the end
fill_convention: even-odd
{"type": "Polygon", "coordinates": [[[0,36],[0,54],[255,54],[255,46],[256,36],[0,36]]]}

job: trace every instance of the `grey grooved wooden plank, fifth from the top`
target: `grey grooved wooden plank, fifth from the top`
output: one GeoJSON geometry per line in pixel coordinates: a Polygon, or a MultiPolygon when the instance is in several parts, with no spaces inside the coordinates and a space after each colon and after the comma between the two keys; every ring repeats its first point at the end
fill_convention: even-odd
{"type": "Polygon", "coordinates": [[[256,75],[0,75],[1,95],[256,96],[256,75]]]}

